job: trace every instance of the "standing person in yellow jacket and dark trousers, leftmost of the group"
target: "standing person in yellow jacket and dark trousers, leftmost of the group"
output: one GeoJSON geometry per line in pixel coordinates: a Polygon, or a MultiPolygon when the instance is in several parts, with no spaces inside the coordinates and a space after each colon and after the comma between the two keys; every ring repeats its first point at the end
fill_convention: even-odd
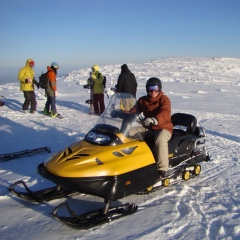
{"type": "Polygon", "coordinates": [[[23,91],[25,101],[22,106],[24,113],[28,112],[30,105],[30,113],[36,113],[37,101],[34,92],[34,84],[39,88],[38,82],[35,80],[35,73],[33,70],[35,63],[32,59],[27,59],[26,66],[21,68],[18,73],[18,80],[20,82],[20,90],[23,91]]]}

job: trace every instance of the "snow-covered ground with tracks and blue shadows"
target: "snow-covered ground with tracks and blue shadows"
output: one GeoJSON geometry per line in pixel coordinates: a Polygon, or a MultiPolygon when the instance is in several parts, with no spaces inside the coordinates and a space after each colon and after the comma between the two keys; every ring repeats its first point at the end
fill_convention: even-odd
{"type": "MultiPolygon", "coordinates": [[[[197,117],[205,127],[211,162],[201,174],[149,195],[132,195],[119,202],[135,202],[133,215],[91,228],[74,230],[49,214],[67,201],[77,213],[99,208],[102,199],[76,195],[43,204],[24,202],[7,187],[24,180],[33,190],[53,186],[37,174],[38,164],[51,153],[0,163],[0,239],[240,239],[240,59],[166,58],[128,64],[138,81],[137,98],[145,94],[149,77],[159,77],[170,97],[172,113],[197,117]]],[[[6,97],[0,107],[0,154],[49,146],[52,153],[82,139],[96,123],[88,115],[83,89],[90,69],[58,78],[57,109],[64,119],[21,111],[23,94],[16,83],[0,85],[6,97]]],[[[101,66],[107,76],[108,94],[116,84],[120,65],[101,66]]],[[[44,91],[36,90],[38,110],[45,104],[44,91]]],[[[107,104],[108,98],[105,95],[107,104]]]]}

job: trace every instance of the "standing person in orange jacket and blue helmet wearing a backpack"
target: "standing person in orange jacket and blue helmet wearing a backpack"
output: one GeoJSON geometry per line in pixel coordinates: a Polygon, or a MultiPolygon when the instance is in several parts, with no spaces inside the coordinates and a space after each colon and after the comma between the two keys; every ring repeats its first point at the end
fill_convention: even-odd
{"type": "Polygon", "coordinates": [[[47,97],[47,101],[44,108],[45,114],[50,114],[52,118],[55,118],[57,113],[56,108],[56,97],[58,95],[57,92],[57,70],[59,69],[59,65],[56,62],[51,64],[51,67],[47,66],[48,74],[48,83],[47,89],[45,90],[45,94],[47,97]],[[51,111],[50,111],[51,108],[51,111]]]}

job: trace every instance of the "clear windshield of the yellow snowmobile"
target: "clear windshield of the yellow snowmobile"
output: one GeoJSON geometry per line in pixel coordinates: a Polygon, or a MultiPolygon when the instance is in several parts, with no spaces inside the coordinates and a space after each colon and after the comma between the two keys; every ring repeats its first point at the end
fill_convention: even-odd
{"type": "Polygon", "coordinates": [[[115,93],[96,125],[105,124],[111,126],[109,129],[114,133],[118,132],[127,138],[142,140],[140,132],[145,129],[141,122],[142,117],[136,108],[136,98],[130,93],[115,93]]]}

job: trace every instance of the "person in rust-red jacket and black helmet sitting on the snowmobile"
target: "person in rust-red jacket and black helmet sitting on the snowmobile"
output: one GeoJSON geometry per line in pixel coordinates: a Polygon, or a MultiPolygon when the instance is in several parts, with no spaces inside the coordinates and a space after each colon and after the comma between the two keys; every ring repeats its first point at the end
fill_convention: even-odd
{"type": "MultiPolygon", "coordinates": [[[[162,83],[158,78],[152,77],[146,83],[147,96],[138,99],[137,111],[143,113],[144,127],[147,134],[154,137],[155,159],[160,177],[166,176],[169,167],[168,141],[172,136],[173,124],[171,122],[171,102],[162,92],[162,83]]],[[[132,109],[131,112],[135,112],[132,109]]]]}

